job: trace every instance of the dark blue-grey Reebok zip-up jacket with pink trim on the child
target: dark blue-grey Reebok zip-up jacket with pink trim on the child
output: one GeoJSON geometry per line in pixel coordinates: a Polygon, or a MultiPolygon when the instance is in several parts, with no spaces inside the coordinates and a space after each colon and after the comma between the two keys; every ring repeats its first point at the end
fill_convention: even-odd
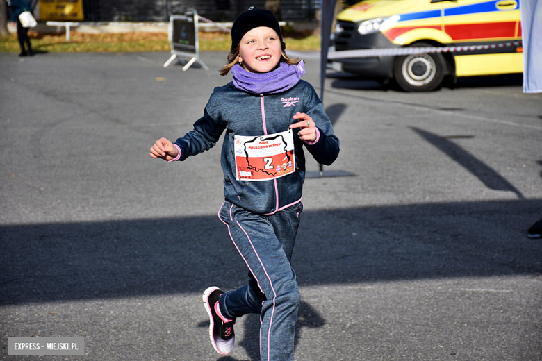
{"type": "Polygon", "coordinates": [[[181,150],[179,160],[211,149],[224,129],[220,160],[224,171],[224,197],[256,214],[272,214],[301,201],[305,178],[303,146],[323,165],[331,165],[339,153],[339,140],[333,133],[331,121],[306,81],[300,80],[279,94],[250,94],[238,90],[233,83],[216,87],[194,130],[176,140],[181,150]],[[296,171],[269,181],[236,180],[235,135],[256,137],[288,131],[290,124],[297,123],[293,119],[296,112],[312,117],[318,133],[314,142],[307,143],[299,139],[299,129],[293,129],[296,171]]]}

